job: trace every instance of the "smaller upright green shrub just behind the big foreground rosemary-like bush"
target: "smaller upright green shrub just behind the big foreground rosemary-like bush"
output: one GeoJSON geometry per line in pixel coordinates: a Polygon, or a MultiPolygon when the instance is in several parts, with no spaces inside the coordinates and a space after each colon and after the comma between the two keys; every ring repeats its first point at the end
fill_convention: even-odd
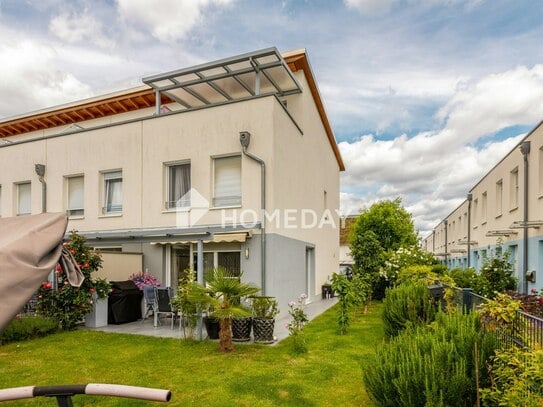
{"type": "Polygon", "coordinates": [[[393,337],[410,325],[423,325],[435,318],[435,305],[425,283],[388,288],[383,300],[385,335],[393,337]]]}

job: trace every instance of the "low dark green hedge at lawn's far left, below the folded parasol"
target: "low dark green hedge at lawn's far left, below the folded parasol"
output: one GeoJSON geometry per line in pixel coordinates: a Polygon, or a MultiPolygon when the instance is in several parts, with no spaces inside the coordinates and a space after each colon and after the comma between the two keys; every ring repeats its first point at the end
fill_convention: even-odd
{"type": "Polygon", "coordinates": [[[0,333],[0,345],[46,336],[58,330],[54,319],[27,316],[13,319],[0,333]]]}

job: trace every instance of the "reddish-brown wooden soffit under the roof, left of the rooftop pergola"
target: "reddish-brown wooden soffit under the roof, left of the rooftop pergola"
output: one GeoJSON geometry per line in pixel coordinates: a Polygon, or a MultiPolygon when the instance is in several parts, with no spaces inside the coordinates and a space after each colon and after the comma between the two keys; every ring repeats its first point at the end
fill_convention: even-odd
{"type": "MultiPolygon", "coordinates": [[[[161,104],[164,103],[171,103],[171,100],[165,95],[161,96],[161,104]]],[[[153,89],[138,90],[1,121],[0,138],[66,126],[154,106],[155,92],[153,89]]]]}

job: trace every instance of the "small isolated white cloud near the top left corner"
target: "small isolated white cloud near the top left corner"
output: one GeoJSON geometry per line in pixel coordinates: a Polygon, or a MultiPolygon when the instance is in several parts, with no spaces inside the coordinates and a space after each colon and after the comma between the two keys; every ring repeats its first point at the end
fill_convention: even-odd
{"type": "Polygon", "coordinates": [[[81,14],[62,12],[49,22],[49,31],[69,44],[85,43],[112,48],[114,42],[103,33],[102,23],[84,11],[81,14]]]}

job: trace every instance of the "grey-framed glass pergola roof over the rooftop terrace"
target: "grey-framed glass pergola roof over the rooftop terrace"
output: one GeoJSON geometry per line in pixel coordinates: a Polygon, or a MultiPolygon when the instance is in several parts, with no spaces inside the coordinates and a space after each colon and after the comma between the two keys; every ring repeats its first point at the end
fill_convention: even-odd
{"type": "Polygon", "coordinates": [[[302,91],[275,47],[148,76],[143,82],[184,109],[302,91]]]}

